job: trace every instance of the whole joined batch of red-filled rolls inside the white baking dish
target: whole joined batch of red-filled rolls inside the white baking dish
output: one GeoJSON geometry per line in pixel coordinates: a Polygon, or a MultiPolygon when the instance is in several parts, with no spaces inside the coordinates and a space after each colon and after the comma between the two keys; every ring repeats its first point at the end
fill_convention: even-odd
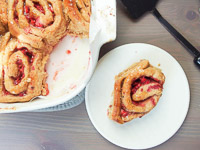
{"type": "Polygon", "coordinates": [[[45,65],[66,35],[89,37],[90,0],[0,0],[0,103],[48,95],[45,65]]]}

